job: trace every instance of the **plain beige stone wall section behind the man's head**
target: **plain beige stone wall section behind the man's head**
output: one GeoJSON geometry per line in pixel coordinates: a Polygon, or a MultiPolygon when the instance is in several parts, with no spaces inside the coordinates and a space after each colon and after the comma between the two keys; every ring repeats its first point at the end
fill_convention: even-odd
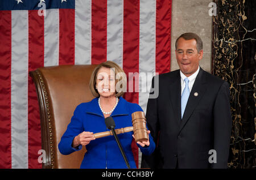
{"type": "Polygon", "coordinates": [[[172,0],[171,71],[179,69],[175,56],[176,38],[185,32],[194,32],[203,41],[204,55],[200,67],[210,72],[212,16],[209,4],[212,0],[172,0]]]}

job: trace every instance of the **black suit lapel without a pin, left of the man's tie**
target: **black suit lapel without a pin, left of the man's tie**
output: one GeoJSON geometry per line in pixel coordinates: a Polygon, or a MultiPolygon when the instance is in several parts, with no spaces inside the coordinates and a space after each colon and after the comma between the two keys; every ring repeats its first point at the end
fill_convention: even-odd
{"type": "Polygon", "coordinates": [[[180,85],[180,71],[177,71],[177,77],[168,87],[168,94],[170,97],[170,101],[172,104],[172,108],[174,109],[174,114],[176,116],[176,121],[178,125],[181,121],[181,106],[180,106],[180,98],[181,98],[181,85],[180,85]]]}

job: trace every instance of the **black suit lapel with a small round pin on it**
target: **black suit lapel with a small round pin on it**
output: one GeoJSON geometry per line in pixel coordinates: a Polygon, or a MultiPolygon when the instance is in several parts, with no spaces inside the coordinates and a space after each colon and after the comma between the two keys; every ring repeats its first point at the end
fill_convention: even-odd
{"type": "Polygon", "coordinates": [[[197,75],[195,83],[193,84],[193,88],[191,89],[183,118],[181,119],[179,132],[182,130],[185,123],[187,123],[189,117],[191,117],[193,110],[199,104],[199,101],[201,100],[201,97],[203,97],[206,89],[207,83],[204,76],[204,71],[200,68],[199,74],[197,75]]]}

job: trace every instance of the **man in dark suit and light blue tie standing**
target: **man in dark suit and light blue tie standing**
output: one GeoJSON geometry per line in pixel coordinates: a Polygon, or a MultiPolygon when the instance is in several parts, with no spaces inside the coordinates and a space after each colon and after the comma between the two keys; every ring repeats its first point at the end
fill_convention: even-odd
{"type": "Polygon", "coordinates": [[[229,84],[199,66],[203,42],[176,40],[179,70],[158,76],[159,95],[147,103],[147,126],[157,145],[142,168],[227,168],[232,118],[229,84]]]}

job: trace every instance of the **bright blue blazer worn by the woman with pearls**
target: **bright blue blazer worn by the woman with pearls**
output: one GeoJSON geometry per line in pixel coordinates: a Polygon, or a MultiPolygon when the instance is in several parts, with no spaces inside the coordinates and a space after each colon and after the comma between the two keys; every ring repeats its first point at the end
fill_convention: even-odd
{"type": "MultiPolygon", "coordinates": [[[[127,102],[124,98],[119,97],[119,102],[110,115],[115,121],[115,128],[133,126],[131,123],[131,114],[137,111],[143,111],[141,106],[127,102]]],[[[104,115],[98,105],[98,98],[94,98],[92,101],[82,103],[76,107],[71,122],[61,137],[59,143],[60,153],[69,155],[72,152],[79,151],[82,145],[73,148],[72,142],[75,136],[83,131],[93,133],[109,131],[105,125],[104,115]]],[[[119,134],[118,138],[131,168],[137,168],[133,152],[131,151],[132,134],[133,131],[126,132],[119,134]]],[[[144,155],[150,155],[155,149],[154,140],[151,135],[149,137],[150,145],[148,147],[141,147],[141,145],[137,144],[144,155]]],[[[86,145],[86,149],[87,152],[84,155],[80,168],[127,168],[114,136],[92,140],[86,145]]]]}

